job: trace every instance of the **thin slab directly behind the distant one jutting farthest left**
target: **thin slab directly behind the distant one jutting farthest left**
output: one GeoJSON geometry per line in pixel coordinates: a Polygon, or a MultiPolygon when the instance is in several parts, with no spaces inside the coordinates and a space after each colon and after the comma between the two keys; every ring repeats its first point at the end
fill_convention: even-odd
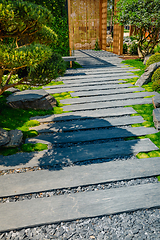
{"type": "MultiPolygon", "coordinates": [[[[92,82],[112,82],[112,81],[115,81],[115,80],[123,80],[123,79],[130,79],[130,78],[133,78],[133,77],[137,77],[137,76],[110,76],[110,77],[99,77],[99,78],[94,78],[94,77],[91,77],[91,78],[86,78],[86,76],[84,76],[84,78],[81,78],[81,79],[65,79],[64,77],[61,77],[59,78],[59,81],[63,81],[65,84],[73,84],[73,83],[76,83],[76,84],[81,84],[81,83],[92,83],[92,82]]],[[[47,86],[46,86],[47,88],[47,86]]]]}

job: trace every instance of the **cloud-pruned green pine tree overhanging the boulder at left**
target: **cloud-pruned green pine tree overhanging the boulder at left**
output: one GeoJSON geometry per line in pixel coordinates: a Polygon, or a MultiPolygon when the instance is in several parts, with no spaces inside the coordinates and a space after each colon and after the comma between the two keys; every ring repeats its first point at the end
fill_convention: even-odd
{"type": "Polygon", "coordinates": [[[10,87],[43,86],[63,75],[65,63],[49,46],[57,40],[51,12],[22,0],[0,0],[0,6],[0,95],[10,87]]]}

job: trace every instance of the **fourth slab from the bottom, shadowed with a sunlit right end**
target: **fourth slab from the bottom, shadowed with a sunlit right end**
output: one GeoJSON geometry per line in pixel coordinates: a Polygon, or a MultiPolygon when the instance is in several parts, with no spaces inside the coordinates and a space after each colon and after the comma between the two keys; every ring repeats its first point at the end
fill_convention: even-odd
{"type": "Polygon", "coordinates": [[[87,141],[95,141],[102,139],[114,139],[144,136],[147,134],[157,133],[155,128],[133,127],[133,128],[113,128],[113,129],[99,129],[78,132],[60,132],[52,134],[41,134],[35,138],[26,139],[25,143],[50,142],[54,143],[79,143],[87,141]]]}

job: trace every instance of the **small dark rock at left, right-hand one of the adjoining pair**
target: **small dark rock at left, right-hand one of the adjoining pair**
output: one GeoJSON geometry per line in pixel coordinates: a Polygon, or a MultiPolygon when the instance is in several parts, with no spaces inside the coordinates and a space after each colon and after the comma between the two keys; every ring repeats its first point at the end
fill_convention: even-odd
{"type": "Polygon", "coordinates": [[[22,138],[23,138],[23,133],[18,130],[11,130],[8,133],[10,141],[7,145],[5,145],[5,147],[18,147],[21,142],[22,142],[22,138]]]}

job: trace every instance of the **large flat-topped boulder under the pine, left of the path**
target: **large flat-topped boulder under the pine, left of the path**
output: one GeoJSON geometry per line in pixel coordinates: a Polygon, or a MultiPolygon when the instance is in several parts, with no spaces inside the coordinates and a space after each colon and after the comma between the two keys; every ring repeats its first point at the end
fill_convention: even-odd
{"type": "Polygon", "coordinates": [[[55,98],[43,89],[16,92],[7,98],[7,104],[12,108],[51,110],[56,103],[55,98]]]}

